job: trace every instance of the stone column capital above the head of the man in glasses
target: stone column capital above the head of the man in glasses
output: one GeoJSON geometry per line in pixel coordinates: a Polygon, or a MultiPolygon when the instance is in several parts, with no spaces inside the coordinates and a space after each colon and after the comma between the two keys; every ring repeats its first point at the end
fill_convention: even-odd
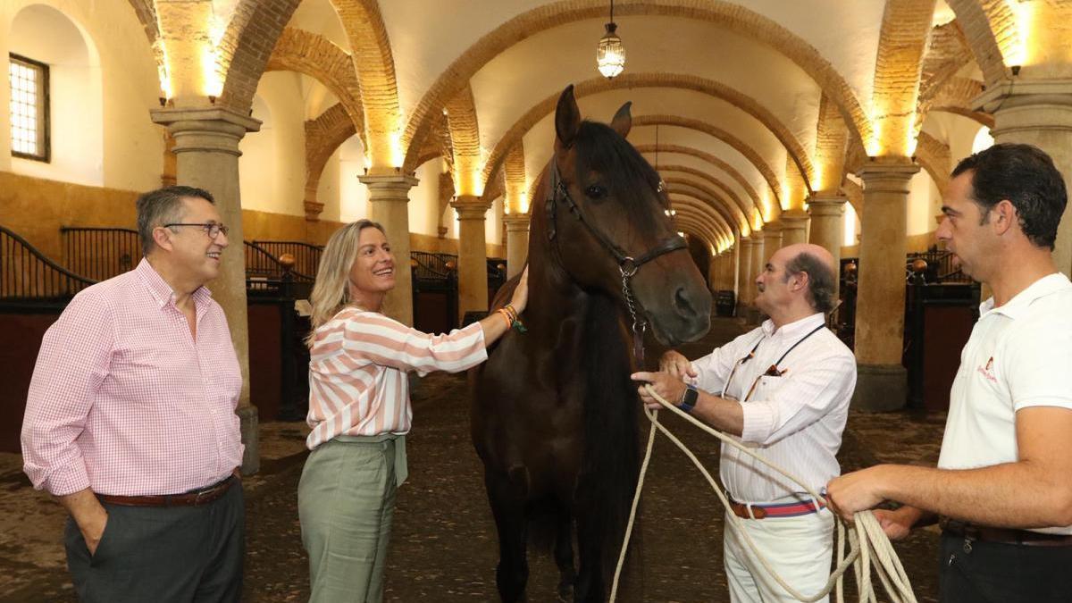
{"type": "Polygon", "coordinates": [[[224,107],[165,107],[152,109],[149,115],[153,123],[167,127],[175,138],[175,153],[204,151],[240,157],[238,143],[242,136],[260,130],[260,120],[224,107]]]}

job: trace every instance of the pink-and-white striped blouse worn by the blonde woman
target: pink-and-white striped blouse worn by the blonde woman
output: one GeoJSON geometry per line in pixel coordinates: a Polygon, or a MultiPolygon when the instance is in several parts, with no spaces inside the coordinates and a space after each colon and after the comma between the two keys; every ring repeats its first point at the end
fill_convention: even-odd
{"type": "Polygon", "coordinates": [[[339,435],[406,433],[413,421],[406,372],[458,372],[487,359],[473,323],[427,335],[378,312],[344,308],[316,329],[309,363],[309,450],[339,435]]]}

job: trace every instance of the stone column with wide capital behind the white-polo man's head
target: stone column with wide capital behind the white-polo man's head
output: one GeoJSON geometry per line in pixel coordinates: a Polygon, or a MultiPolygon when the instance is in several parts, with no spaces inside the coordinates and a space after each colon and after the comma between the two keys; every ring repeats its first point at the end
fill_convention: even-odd
{"type": "MultiPolygon", "coordinates": [[[[1014,77],[989,87],[973,104],[994,114],[995,143],[1024,143],[1046,151],[1072,190],[1072,79],[1014,77]]],[[[1054,263],[1072,274],[1072,203],[1057,230],[1054,263]]]]}

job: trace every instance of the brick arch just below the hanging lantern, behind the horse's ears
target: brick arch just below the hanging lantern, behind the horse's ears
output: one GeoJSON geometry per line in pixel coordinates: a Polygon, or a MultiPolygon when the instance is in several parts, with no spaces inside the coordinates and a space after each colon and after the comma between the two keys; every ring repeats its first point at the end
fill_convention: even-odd
{"type": "MultiPolygon", "coordinates": [[[[574,87],[574,95],[580,99],[623,88],[675,88],[691,90],[734,105],[755,117],[786,147],[786,152],[796,165],[801,176],[803,176],[805,186],[810,190],[810,182],[815,177],[815,166],[812,164],[810,156],[804,150],[804,145],[796,139],[796,136],[789,131],[789,128],[785,123],[754,98],[714,79],[675,73],[625,73],[614,79],[594,77],[577,84],[574,87]]],[[[493,177],[495,172],[502,167],[503,159],[509,148],[522,139],[533,126],[554,112],[557,102],[559,93],[547,97],[528,109],[506,131],[506,134],[503,135],[495,145],[495,148],[492,149],[491,155],[488,156],[488,161],[483,167],[485,180],[493,177]]]]}

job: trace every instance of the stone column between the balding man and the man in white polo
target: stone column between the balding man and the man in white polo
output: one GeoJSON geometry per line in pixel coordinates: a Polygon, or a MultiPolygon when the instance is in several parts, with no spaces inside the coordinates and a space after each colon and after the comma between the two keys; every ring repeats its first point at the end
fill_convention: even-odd
{"type": "Polygon", "coordinates": [[[860,225],[857,295],[857,389],[852,405],[864,411],[903,408],[908,373],[900,364],[905,330],[905,206],[920,166],[870,162],[860,170],[864,212],[860,225]]]}

